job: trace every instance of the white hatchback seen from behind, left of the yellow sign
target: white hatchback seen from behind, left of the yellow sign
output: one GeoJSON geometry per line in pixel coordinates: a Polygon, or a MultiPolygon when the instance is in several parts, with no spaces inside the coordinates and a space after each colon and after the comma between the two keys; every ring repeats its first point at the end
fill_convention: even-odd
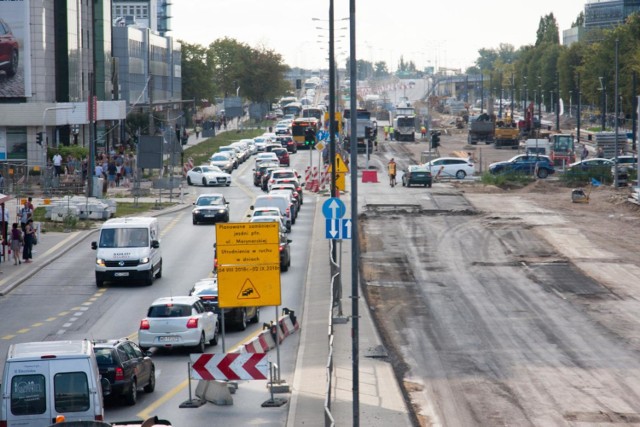
{"type": "Polygon", "coordinates": [[[218,315],[207,311],[200,298],[158,298],[140,321],[138,345],[143,351],[151,347],[192,347],[196,353],[204,353],[207,343],[218,343],[219,329],[218,315]]]}

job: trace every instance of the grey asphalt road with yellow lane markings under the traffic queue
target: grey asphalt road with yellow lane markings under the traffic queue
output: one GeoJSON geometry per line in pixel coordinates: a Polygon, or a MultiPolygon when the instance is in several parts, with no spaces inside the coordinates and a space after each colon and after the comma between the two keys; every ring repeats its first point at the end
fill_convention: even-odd
{"type": "MultiPolygon", "coordinates": [[[[293,166],[304,170],[308,154],[293,155],[293,166]]],[[[246,220],[248,208],[257,194],[263,194],[252,181],[253,160],[249,159],[233,172],[231,187],[190,187],[195,195],[220,192],[230,201],[231,221],[246,220]]],[[[307,260],[310,256],[311,224],[315,198],[305,199],[296,225],[289,238],[292,264],[281,276],[282,306],[298,312],[302,309],[307,260]]],[[[97,288],[94,278],[95,252],[87,239],[67,254],[46,266],[0,299],[0,336],[13,335],[0,341],[0,365],[4,365],[12,342],[106,339],[128,336],[137,340],[140,320],[156,298],[187,295],[194,282],[208,277],[213,262],[215,226],[192,225],[191,209],[159,216],[163,249],[163,277],[152,286],[109,284],[97,288]]],[[[97,234],[95,234],[97,236],[97,234]]],[[[262,323],[276,318],[275,307],[263,307],[260,322],[245,331],[228,330],[225,347],[229,351],[262,330],[262,323]]],[[[281,347],[281,369],[284,379],[292,377],[298,338],[292,336],[281,347]]],[[[222,352],[222,342],[209,346],[208,353],[222,352]]],[[[138,403],[129,407],[119,402],[108,404],[107,421],[144,418],[159,415],[177,426],[207,425],[215,417],[225,425],[245,425],[247,420],[261,425],[284,425],[287,407],[261,408],[270,398],[264,381],[241,382],[234,395],[234,405],[218,407],[207,404],[198,409],[179,409],[188,399],[189,350],[154,351],[157,385],[151,394],[140,393],[138,403]]],[[[276,362],[276,352],[269,360],[276,362]]],[[[195,383],[193,384],[195,391],[195,383]]]]}

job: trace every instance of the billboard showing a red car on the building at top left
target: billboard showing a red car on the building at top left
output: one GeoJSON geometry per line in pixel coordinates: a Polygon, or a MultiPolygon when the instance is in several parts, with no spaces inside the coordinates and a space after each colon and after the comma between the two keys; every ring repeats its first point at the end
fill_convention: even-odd
{"type": "Polygon", "coordinates": [[[0,0],[0,98],[31,96],[30,0],[0,0]]]}

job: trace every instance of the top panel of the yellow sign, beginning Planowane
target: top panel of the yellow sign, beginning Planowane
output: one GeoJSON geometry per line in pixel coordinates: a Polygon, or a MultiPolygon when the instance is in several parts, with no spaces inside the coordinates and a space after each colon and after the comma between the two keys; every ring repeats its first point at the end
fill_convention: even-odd
{"type": "Polygon", "coordinates": [[[280,244],[276,222],[235,222],[216,224],[216,245],[252,246],[280,244]]]}

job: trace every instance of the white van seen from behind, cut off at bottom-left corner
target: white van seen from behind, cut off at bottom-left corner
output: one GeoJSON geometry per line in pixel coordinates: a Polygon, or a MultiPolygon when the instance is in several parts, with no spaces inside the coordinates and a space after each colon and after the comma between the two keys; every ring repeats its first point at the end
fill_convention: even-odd
{"type": "Polygon", "coordinates": [[[103,421],[103,392],[93,345],[87,340],[11,344],[2,375],[0,425],[42,427],[56,417],[103,421]]]}

